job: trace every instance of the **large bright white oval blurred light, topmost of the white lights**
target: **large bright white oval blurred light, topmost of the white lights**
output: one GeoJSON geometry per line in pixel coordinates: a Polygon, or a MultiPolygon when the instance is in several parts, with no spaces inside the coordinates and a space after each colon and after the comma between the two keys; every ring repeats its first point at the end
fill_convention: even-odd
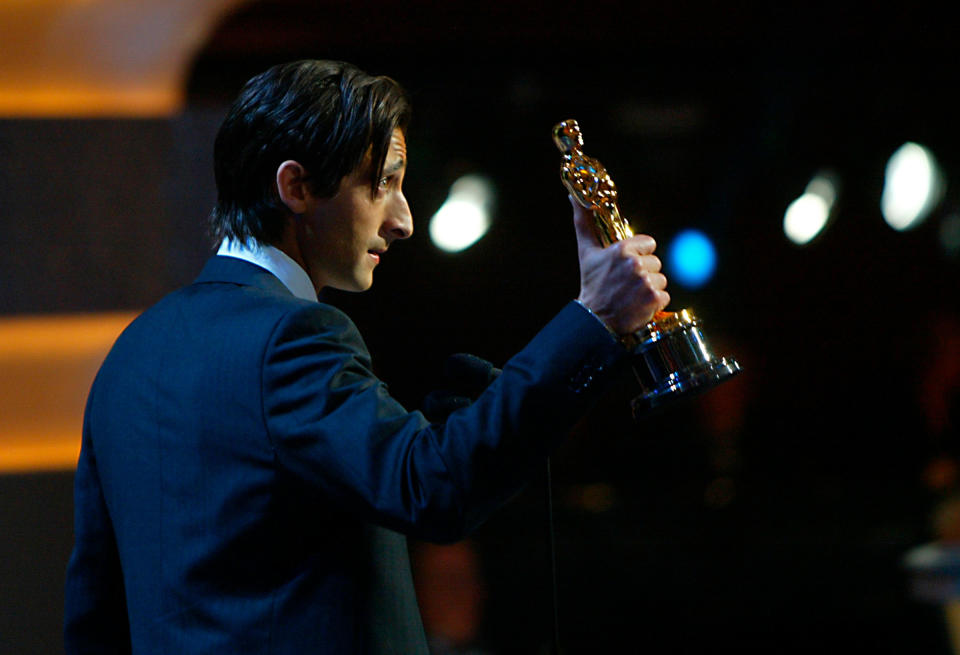
{"type": "Polygon", "coordinates": [[[897,231],[916,227],[940,202],[943,186],[933,154],[918,143],[903,144],[887,162],[880,198],[883,219],[897,231]]]}

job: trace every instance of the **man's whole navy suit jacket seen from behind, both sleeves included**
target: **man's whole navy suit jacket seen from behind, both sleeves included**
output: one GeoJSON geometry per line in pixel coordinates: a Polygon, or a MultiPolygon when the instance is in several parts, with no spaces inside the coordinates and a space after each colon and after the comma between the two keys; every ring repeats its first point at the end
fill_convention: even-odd
{"type": "Polygon", "coordinates": [[[571,303],[444,424],[353,323],[213,257],[93,384],[75,481],[77,653],[425,653],[404,535],[459,539],[529,477],[623,349],[571,303]]]}

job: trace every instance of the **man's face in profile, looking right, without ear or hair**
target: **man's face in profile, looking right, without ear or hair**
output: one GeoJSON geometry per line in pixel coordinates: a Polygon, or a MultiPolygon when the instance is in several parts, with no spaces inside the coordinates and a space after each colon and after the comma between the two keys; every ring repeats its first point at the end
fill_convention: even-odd
{"type": "Polygon", "coordinates": [[[397,239],[413,233],[413,217],[403,195],[407,146],[403,132],[394,130],[376,193],[370,177],[377,162],[370,152],[343,178],[330,198],[307,194],[307,210],[297,221],[297,240],[307,273],[319,290],[329,286],[365,291],[373,284],[373,269],[397,239]]]}

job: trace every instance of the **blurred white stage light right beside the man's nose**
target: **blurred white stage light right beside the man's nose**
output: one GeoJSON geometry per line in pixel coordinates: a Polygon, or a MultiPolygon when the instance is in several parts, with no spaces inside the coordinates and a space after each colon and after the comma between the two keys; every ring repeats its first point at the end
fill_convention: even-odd
{"type": "Polygon", "coordinates": [[[495,190],[481,175],[465,175],[450,186],[446,201],[430,219],[430,239],[441,250],[466,250],[490,229],[495,190]]]}

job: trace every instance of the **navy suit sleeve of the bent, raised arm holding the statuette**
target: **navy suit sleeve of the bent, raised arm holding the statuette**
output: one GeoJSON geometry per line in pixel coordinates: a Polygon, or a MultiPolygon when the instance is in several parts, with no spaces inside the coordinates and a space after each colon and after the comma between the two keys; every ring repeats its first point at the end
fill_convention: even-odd
{"type": "Polygon", "coordinates": [[[274,331],[264,417],[281,469],[298,484],[366,521],[453,541],[519,491],[624,360],[570,303],[476,402],[431,424],[390,397],[353,323],[317,305],[274,331]]]}

